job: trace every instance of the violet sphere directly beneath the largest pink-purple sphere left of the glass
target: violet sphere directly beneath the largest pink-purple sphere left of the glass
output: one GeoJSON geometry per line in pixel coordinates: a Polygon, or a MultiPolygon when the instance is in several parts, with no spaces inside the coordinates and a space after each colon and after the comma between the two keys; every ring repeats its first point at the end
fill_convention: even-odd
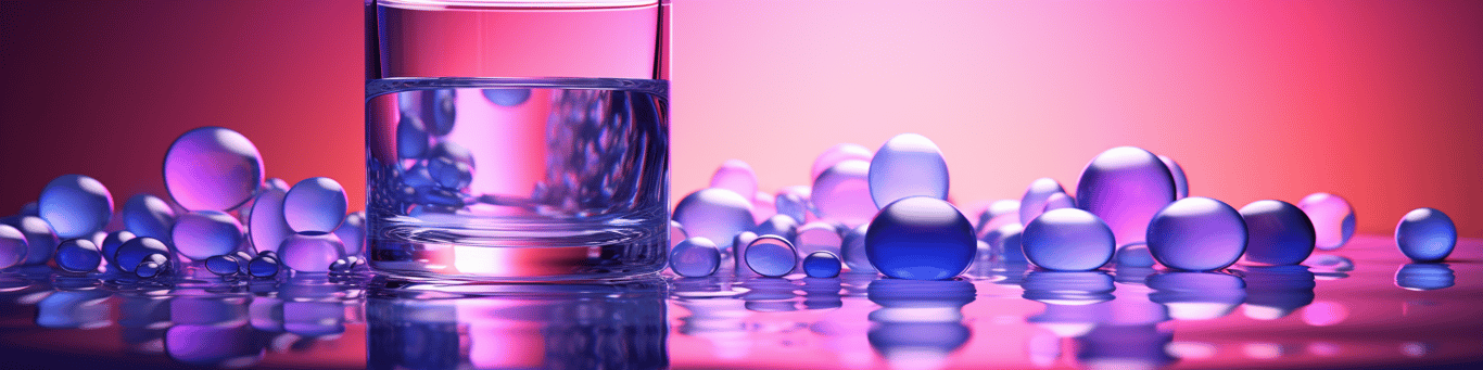
{"type": "Polygon", "coordinates": [[[215,210],[190,212],[175,221],[171,238],[181,256],[203,260],[242,246],[242,223],[231,215],[215,210]]]}

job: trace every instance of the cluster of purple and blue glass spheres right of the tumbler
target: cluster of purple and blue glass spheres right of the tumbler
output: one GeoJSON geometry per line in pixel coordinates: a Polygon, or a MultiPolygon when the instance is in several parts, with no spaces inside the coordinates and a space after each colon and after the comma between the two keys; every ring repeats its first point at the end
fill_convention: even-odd
{"type": "MultiPolygon", "coordinates": [[[[749,164],[728,160],[709,188],[675,207],[670,269],[681,277],[949,280],[974,263],[1007,262],[1198,272],[1238,262],[1298,265],[1354,235],[1354,209],[1339,195],[1235,209],[1189,197],[1173,158],[1134,147],[1091,158],[1075,195],[1041,178],[1019,200],[994,201],[968,218],[948,201],[946,163],[933,141],[915,133],[873,152],[841,144],[813,163],[813,184],[768,194],[749,164]]],[[[1396,243],[1415,262],[1440,262],[1456,244],[1456,228],[1440,210],[1418,209],[1397,225],[1396,243]]]]}

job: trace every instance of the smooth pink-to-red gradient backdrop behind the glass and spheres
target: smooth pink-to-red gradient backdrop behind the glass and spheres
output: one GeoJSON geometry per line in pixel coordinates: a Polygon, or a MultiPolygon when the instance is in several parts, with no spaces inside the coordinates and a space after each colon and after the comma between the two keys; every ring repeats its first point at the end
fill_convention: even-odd
{"type": "MultiPolygon", "coordinates": [[[[175,136],[224,126],[267,175],[363,200],[362,3],[0,3],[0,215],[55,176],[165,195],[175,136]]],[[[728,158],[764,191],[838,142],[937,142],[960,204],[1074,188],[1097,152],[1178,160],[1235,207],[1347,197],[1483,237],[1483,3],[675,1],[672,198],[728,158]]]]}

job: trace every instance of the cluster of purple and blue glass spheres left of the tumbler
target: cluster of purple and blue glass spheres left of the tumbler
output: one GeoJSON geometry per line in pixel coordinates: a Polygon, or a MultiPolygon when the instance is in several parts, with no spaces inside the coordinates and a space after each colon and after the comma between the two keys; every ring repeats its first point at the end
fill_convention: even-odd
{"type": "Polygon", "coordinates": [[[117,213],[102,182],[53,179],[36,203],[0,219],[0,268],[101,278],[208,271],[242,280],[365,265],[365,215],[346,213],[344,188],[329,178],[294,186],[265,179],[261,154],[242,133],[185,132],[163,167],[171,201],[141,192],[117,213]]]}

